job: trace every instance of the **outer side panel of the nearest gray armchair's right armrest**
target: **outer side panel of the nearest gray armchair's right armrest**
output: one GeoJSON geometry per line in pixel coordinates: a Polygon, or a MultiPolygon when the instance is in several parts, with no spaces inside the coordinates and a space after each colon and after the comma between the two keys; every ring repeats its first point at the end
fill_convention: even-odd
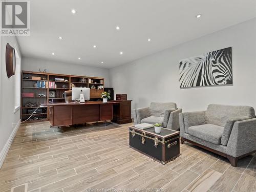
{"type": "Polygon", "coordinates": [[[227,154],[239,157],[256,150],[256,118],[234,122],[228,143],[227,154]]]}

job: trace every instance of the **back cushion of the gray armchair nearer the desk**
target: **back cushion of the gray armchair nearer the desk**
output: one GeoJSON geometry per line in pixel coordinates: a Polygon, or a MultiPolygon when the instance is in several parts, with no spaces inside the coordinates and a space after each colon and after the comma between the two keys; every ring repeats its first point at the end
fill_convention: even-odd
{"type": "Polygon", "coordinates": [[[173,108],[177,109],[176,103],[152,102],[150,104],[150,116],[164,117],[165,111],[173,108]]]}

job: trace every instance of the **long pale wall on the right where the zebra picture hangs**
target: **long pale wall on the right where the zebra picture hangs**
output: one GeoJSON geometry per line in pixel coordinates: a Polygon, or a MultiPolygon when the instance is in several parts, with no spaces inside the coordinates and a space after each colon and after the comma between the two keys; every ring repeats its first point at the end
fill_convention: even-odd
{"type": "Polygon", "coordinates": [[[126,93],[133,100],[133,108],[152,101],[170,101],[184,112],[205,110],[209,103],[251,105],[256,109],[255,34],[256,18],[112,68],[110,86],[115,94],[126,93]],[[179,88],[180,59],[230,46],[233,86],[179,88]]]}

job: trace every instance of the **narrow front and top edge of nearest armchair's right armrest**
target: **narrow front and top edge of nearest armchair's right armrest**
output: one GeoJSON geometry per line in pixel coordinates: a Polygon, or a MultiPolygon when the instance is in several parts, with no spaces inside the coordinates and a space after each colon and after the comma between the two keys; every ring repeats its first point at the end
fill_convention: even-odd
{"type": "Polygon", "coordinates": [[[242,121],[242,120],[246,120],[246,119],[251,119],[251,117],[249,116],[242,116],[242,117],[233,117],[227,120],[227,122],[224,125],[224,130],[223,130],[223,134],[221,137],[221,144],[222,145],[227,145],[228,139],[230,137],[231,131],[233,129],[233,125],[235,122],[237,121],[242,121]]]}

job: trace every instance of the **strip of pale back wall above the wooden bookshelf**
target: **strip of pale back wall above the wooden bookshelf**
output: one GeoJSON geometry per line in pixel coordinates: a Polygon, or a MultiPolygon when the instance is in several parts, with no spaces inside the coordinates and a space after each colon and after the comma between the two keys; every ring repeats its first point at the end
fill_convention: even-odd
{"type": "Polygon", "coordinates": [[[47,69],[47,73],[60,73],[68,75],[81,75],[92,77],[104,77],[104,86],[109,86],[109,69],[96,68],[82,65],[72,65],[59,61],[23,57],[22,70],[39,72],[47,69]]]}

